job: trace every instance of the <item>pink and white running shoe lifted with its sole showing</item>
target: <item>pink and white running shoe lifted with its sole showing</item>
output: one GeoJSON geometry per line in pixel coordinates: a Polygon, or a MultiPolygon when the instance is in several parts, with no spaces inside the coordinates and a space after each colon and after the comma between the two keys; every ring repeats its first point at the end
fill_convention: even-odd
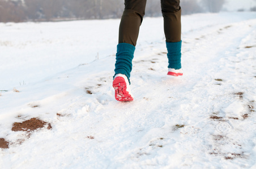
{"type": "Polygon", "coordinates": [[[115,90],[114,97],[117,101],[133,101],[129,81],[124,74],[117,74],[114,77],[113,87],[115,90]]]}

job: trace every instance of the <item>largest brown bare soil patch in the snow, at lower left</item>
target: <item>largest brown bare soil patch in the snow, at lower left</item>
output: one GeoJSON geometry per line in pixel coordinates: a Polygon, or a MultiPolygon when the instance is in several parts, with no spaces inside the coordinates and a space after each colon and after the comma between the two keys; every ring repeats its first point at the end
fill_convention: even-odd
{"type": "Polygon", "coordinates": [[[50,123],[46,123],[38,118],[31,118],[22,123],[15,122],[12,124],[12,131],[34,131],[37,128],[45,127],[48,124],[47,129],[50,130],[52,126],[50,123]]]}

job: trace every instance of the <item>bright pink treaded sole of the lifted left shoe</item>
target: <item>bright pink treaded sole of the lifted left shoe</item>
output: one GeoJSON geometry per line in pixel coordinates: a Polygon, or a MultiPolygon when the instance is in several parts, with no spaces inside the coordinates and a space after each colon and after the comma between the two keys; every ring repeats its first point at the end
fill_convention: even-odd
{"type": "Polygon", "coordinates": [[[115,91],[115,98],[117,101],[133,101],[133,97],[126,90],[126,82],[123,77],[116,77],[113,81],[113,87],[115,91]]]}

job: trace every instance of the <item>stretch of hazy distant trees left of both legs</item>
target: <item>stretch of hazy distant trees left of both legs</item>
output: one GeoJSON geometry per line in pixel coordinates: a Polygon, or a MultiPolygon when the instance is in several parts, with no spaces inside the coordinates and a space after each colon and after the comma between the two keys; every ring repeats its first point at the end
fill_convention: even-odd
{"type": "Polygon", "coordinates": [[[0,22],[121,17],[122,0],[0,0],[0,22]]]}

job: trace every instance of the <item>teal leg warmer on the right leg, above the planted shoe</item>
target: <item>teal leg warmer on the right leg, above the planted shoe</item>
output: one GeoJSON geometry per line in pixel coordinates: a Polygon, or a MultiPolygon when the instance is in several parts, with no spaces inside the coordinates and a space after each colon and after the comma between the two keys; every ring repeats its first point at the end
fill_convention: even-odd
{"type": "Polygon", "coordinates": [[[181,69],[181,41],[180,42],[166,42],[168,68],[181,69]]]}

